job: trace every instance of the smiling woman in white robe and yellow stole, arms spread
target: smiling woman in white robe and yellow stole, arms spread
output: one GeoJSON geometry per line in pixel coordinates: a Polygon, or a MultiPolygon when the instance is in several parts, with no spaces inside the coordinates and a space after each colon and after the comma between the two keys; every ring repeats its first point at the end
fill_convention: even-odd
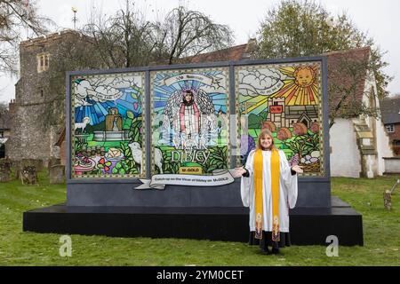
{"type": "Polygon", "coordinates": [[[289,166],[283,151],[276,149],[272,133],[262,130],[257,148],[248,155],[244,168],[236,168],[242,176],[241,194],[250,208],[250,244],[260,244],[263,253],[278,254],[279,248],[290,245],[289,209],[297,200],[298,165],[289,166]]]}

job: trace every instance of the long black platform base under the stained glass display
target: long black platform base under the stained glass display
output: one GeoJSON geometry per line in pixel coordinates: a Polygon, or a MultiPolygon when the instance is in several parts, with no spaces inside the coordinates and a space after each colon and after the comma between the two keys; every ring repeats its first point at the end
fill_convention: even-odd
{"type": "MultiPolygon", "coordinates": [[[[248,241],[247,208],[67,207],[63,204],[24,212],[23,230],[36,233],[112,237],[185,238],[248,241]]],[[[363,245],[362,216],[332,198],[332,208],[298,208],[290,212],[293,245],[363,245]]]]}

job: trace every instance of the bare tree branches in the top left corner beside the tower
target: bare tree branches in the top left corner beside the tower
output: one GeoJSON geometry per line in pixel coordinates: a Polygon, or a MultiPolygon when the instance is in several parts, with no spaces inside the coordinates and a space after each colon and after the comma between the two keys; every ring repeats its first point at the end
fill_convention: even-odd
{"type": "Polygon", "coordinates": [[[17,72],[18,44],[27,30],[36,36],[47,32],[52,21],[37,14],[36,3],[0,0],[0,72],[17,72]]]}

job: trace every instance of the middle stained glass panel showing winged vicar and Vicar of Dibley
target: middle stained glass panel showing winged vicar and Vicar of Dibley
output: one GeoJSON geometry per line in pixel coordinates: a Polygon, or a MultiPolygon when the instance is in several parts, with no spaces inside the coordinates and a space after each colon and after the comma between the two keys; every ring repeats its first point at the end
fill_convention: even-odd
{"type": "Polygon", "coordinates": [[[228,169],[228,68],[151,73],[152,174],[228,169]]]}

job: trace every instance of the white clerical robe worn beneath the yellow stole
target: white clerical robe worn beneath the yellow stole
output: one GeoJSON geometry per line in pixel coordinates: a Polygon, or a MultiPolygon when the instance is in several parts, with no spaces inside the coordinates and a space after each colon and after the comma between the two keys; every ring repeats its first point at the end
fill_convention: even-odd
{"type": "MultiPolygon", "coordinates": [[[[249,177],[242,177],[240,190],[245,207],[250,207],[250,231],[255,231],[255,205],[254,205],[254,153],[250,152],[245,169],[249,177]]],[[[262,176],[262,206],[263,220],[262,231],[272,232],[272,188],[271,188],[271,151],[262,151],[263,176],[262,176]]],[[[292,176],[292,170],[284,152],[279,150],[280,177],[279,177],[279,230],[289,232],[289,208],[292,209],[297,201],[297,174],[292,176]]]]}

